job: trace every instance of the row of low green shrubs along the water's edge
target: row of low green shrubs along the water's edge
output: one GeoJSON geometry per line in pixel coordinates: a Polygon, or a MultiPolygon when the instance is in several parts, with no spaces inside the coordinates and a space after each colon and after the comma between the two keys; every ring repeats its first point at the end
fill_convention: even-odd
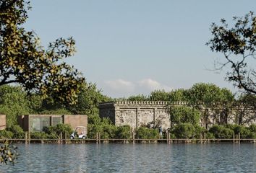
{"type": "MultiPolygon", "coordinates": [[[[132,128],[129,125],[116,127],[115,125],[88,125],[88,138],[96,138],[96,133],[101,133],[102,139],[109,138],[132,138],[132,128]]],[[[206,138],[233,138],[233,134],[240,133],[241,138],[256,138],[256,125],[245,127],[243,125],[213,125],[209,130],[190,123],[180,123],[168,130],[171,138],[200,138],[200,133],[205,133],[206,138]]],[[[43,132],[30,133],[30,138],[58,138],[59,134],[72,133],[69,125],[59,124],[43,128],[43,132]]],[[[159,138],[158,129],[140,127],[135,129],[136,138],[150,139],[159,138]]],[[[25,132],[19,125],[13,125],[6,130],[0,130],[0,138],[25,138],[25,132]]],[[[166,133],[163,134],[166,138],[166,133]]]]}

